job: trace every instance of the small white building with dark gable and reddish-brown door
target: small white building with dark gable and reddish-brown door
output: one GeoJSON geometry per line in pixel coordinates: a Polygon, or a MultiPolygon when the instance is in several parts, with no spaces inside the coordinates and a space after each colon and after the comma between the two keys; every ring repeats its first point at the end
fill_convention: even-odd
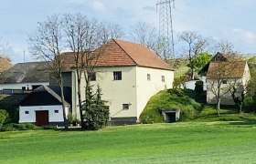
{"type": "MultiPolygon", "coordinates": [[[[30,93],[19,106],[19,123],[33,123],[38,127],[63,127],[63,110],[59,87],[41,86],[30,93]]],[[[64,87],[66,113],[71,107],[71,90],[64,87]]]]}

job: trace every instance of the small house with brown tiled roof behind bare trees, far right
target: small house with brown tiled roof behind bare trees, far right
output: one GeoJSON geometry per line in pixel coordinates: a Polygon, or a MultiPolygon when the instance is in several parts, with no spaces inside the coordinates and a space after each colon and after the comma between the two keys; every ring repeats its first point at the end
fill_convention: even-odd
{"type": "Polygon", "coordinates": [[[220,104],[234,105],[229,87],[240,87],[245,90],[251,78],[250,69],[245,61],[213,61],[210,62],[207,73],[207,102],[216,104],[218,85],[220,86],[220,104]]]}

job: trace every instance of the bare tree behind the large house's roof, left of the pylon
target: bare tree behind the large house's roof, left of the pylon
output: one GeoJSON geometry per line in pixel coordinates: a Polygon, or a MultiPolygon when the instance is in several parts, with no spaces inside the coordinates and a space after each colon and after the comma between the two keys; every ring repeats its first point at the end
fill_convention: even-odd
{"type": "MultiPolygon", "coordinates": [[[[158,30],[155,26],[144,22],[138,22],[135,26],[133,26],[133,41],[139,44],[142,44],[149,49],[155,51],[158,56],[161,56],[162,51],[164,49],[163,43],[158,34],[158,30]]],[[[161,56],[166,59],[166,56],[161,56]]]]}

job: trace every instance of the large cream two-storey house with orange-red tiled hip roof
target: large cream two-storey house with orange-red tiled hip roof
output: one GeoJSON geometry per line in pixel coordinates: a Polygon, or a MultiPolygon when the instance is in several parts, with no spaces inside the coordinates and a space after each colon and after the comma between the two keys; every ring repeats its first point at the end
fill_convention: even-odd
{"type": "MultiPolygon", "coordinates": [[[[160,90],[172,88],[174,70],[145,46],[113,39],[107,45],[94,68],[91,85],[100,85],[102,99],[110,108],[111,121],[135,123],[150,97],[160,90]]],[[[77,78],[72,71],[72,112],[79,115],[77,78]]],[[[81,81],[81,96],[85,99],[86,82],[81,81]]]]}

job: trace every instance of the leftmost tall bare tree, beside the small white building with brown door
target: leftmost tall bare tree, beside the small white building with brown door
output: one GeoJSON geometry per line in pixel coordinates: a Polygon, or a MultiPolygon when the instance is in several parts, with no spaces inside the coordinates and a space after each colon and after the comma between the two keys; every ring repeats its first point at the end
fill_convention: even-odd
{"type": "Polygon", "coordinates": [[[65,110],[66,104],[63,92],[60,57],[61,51],[64,49],[64,36],[61,25],[62,22],[59,15],[48,16],[47,21],[38,23],[36,33],[29,36],[28,43],[33,55],[51,62],[49,65],[52,70],[51,77],[58,83],[60,88],[64,125],[65,129],[67,129],[68,123],[65,110]]]}

